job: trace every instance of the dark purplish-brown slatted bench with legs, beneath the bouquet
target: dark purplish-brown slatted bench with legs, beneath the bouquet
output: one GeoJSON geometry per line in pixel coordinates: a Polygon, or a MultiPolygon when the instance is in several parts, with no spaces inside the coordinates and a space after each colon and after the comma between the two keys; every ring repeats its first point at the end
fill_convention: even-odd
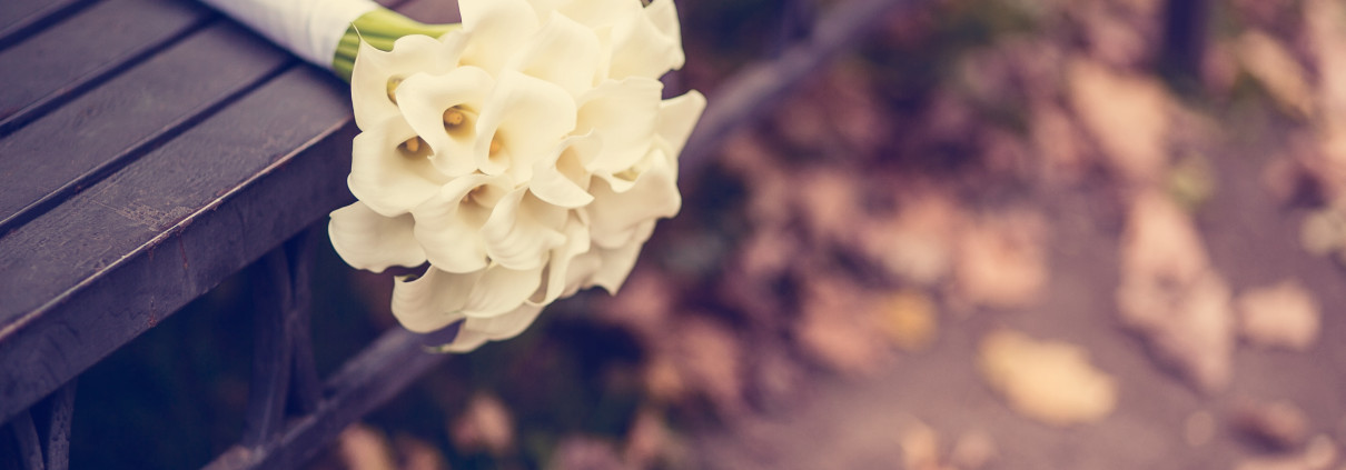
{"type": "MultiPolygon", "coordinates": [[[[723,83],[684,180],[909,3],[851,0],[723,83]]],[[[396,8],[427,21],[456,11],[396,8]]],[[[447,360],[392,329],[326,381],[314,369],[303,232],[353,200],[355,133],[345,83],[194,1],[5,0],[0,439],[12,442],[0,449],[28,469],[65,469],[75,377],[253,263],[264,302],[248,424],[210,467],[295,467],[447,360]]]]}

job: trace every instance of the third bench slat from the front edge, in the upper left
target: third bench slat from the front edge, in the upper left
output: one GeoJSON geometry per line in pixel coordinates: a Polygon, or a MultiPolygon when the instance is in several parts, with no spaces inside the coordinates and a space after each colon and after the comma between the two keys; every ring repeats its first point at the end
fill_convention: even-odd
{"type": "Polygon", "coordinates": [[[191,1],[108,0],[0,51],[0,136],[213,16],[191,1]]]}

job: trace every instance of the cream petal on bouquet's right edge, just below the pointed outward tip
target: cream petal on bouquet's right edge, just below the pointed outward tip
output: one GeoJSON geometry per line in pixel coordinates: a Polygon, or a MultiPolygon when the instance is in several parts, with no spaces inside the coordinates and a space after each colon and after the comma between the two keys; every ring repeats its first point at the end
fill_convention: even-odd
{"type": "Polygon", "coordinates": [[[594,180],[590,187],[594,203],[586,207],[586,212],[595,244],[611,248],[630,243],[642,223],[672,218],[682,207],[673,168],[664,152],[651,152],[647,164],[649,169],[639,173],[626,191],[615,191],[612,177],[600,175],[594,180]]]}

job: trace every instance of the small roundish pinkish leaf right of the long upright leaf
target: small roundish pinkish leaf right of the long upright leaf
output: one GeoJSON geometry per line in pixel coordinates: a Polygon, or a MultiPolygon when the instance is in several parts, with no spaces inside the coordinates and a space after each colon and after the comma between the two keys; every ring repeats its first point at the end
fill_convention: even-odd
{"type": "Polygon", "coordinates": [[[1298,281],[1249,290],[1238,295],[1237,305],[1248,342],[1306,350],[1318,340],[1318,301],[1298,281]]]}

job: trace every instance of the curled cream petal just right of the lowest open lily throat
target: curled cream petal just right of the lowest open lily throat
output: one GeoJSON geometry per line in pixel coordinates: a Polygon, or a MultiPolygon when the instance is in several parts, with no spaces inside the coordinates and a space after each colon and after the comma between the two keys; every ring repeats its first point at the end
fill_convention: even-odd
{"type": "Polygon", "coordinates": [[[546,254],[565,243],[560,232],[565,209],[529,195],[526,188],[506,195],[482,226],[486,252],[503,267],[541,269],[546,254]]]}

